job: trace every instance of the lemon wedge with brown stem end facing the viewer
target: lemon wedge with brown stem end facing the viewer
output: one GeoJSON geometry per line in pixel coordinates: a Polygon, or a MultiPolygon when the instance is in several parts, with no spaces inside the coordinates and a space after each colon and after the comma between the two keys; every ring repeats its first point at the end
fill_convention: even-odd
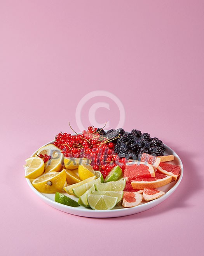
{"type": "Polygon", "coordinates": [[[32,181],[33,187],[42,193],[61,191],[66,183],[66,172],[46,172],[32,181]]]}

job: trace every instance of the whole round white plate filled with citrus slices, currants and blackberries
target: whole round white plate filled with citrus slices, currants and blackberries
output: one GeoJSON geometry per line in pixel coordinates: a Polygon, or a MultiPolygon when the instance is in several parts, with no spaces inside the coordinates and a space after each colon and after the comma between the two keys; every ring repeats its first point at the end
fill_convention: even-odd
{"type": "Polygon", "coordinates": [[[45,203],[96,218],[148,210],[167,199],[183,177],[181,159],[160,139],[136,129],[93,126],[58,133],[26,159],[24,169],[28,185],[45,203]]]}

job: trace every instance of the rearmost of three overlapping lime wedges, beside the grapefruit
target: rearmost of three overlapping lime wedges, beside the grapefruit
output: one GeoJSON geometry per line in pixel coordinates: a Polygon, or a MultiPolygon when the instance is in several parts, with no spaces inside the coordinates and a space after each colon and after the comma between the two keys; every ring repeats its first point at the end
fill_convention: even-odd
{"type": "Polygon", "coordinates": [[[101,184],[96,184],[96,191],[123,191],[126,186],[126,180],[124,178],[118,181],[110,181],[101,184]]]}

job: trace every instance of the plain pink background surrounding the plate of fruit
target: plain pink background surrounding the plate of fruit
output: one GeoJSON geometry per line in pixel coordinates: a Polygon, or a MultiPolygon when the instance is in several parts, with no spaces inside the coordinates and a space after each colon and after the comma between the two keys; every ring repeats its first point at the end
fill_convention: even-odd
{"type": "MultiPolygon", "coordinates": [[[[202,0],[1,1],[1,255],[202,255],[203,10],[202,0]],[[76,107],[95,90],[122,101],[126,130],[180,155],[183,180],[159,206],[89,219],[28,187],[24,160],[71,132],[68,121],[79,131],[76,107]]],[[[86,125],[94,102],[84,106],[86,125]]],[[[96,119],[114,128],[119,111],[110,107],[96,119]]]]}

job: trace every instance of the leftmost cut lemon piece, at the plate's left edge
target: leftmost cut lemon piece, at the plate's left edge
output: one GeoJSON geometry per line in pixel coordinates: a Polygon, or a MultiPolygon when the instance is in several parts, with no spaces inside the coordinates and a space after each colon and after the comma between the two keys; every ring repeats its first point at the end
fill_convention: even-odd
{"type": "Polygon", "coordinates": [[[41,174],[43,174],[45,169],[45,164],[40,157],[30,157],[26,159],[26,165],[24,165],[26,176],[28,179],[35,179],[41,174]]]}

